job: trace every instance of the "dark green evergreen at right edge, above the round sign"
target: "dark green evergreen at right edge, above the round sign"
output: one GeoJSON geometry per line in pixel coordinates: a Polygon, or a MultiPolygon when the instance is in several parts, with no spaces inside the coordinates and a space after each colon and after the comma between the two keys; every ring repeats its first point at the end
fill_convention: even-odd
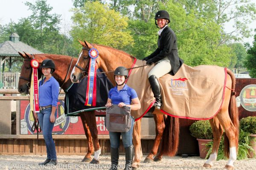
{"type": "MultiPolygon", "coordinates": [[[[256,29],[254,30],[256,32],[256,29]]],[[[244,62],[252,78],[256,78],[256,34],[254,35],[253,46],[248,46],[247,56],[244,62]]]]}

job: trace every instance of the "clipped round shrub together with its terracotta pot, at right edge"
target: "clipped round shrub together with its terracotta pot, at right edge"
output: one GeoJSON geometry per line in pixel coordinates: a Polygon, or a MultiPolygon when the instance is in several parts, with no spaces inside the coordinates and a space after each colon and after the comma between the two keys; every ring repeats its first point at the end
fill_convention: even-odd
{"type": "Polygon", "coordinates": [[[250,147],[253,150],[248,150],[248,158],[256,157],[256,117],[248,116],[240,120],[240,129],[250,134],[250,147]]]}

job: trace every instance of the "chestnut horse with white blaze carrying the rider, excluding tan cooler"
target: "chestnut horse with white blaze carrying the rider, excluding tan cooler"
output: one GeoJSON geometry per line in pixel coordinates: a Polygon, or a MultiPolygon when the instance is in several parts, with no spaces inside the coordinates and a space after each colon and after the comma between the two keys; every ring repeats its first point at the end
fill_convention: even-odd
{"type": "MultiPolygon", "coordinates": [[[[74,67],[72,74],[71,74],[71,80],[72,82],[78,82],[79,79],[81,79],[81,70],[79,67],[84,69],[85,71],[88,71],[88,64],[90,61],[90,57],[88,57],[88,50],[90,48],[97,48],[99,51],[99,57],[97,58],[97,64],[99,68],[102,68],[103,71],[113,71],[118,66],[122,65],[126,68],[130,68],[131,65],[134,62],[134,57],[131,55],[116,50],[111,47],[103,46],[103,45],[96,45],[96,44],[90,44],[86,41],[81,42],[82,45],[82,51],[79,55],[79,59],[77,61],[78,67],[74,67]]],[[[113,74],[109,74],[109,79],[111,79],[112,82],[114,82],[113,74]]],[[[236,160],[236,154],[238,150],[238,137],[239,137],[239,117],[238,117],[238,111],[236,108],[236,99],[235,99],[235,77],[232,71],[227,69],[227,83],[225,88],[225,94],[224,94],[224,101],[221,105],[220,110],[218,113],[209,120],[211,127],[212,127],[212,133],[213,133],[213,147],[212,147],[212,153],[209,156],[209,159],[204,163],[204,167],[212,167],[213,161],[217,158],[218,153],[218,147],[220,144],[221,136],[223,134],[223,129],[225,130],[225,149],[224,153],[229,158],[227,164],[225,165],[225,169],[233,169],[233,162],[236,160]]],[[[142,87],[143,88],[143,87],[142,87]]],[[[158,114],[155,117],[158,118],[158,114]]],[[[138,122],[138,121],[137,121],[138,122]]],[[[161,122],[161,125],[163,125],[162,128],[164,128],[164,122],[161,122]]],[[[137,129],[139,129],[140,125],[137,125],[137,129]]],[[[159,127],[159,126],[157,126],[159,127]]],[[[136,142],[136,137],[140,136],[140,130],[136,131],[136,128],[134,129],[135,134],[134,135],[134,142],[136,142]]],[[[171,129],[169,129],[169,133],[171,132],[171,129]]],[[[166,142],[163,139],[163,144],[165,145],[166,142]]],[[[137,146],[138,147],[138,146],[137,146]]],[[[164,150],[166,147],[162,147],[164,150]]],[[[136,147],[135,147],[136,149],[136,147]]],[[[137,148],[138,150],[139,148],[137,148]]],[[[160,153],[164,153],[165,151],[161,150],[160,153]]],[[[155,154],[156,150],[151,152],[151,154],[155,154]]],[[[139,163],[139,159],[135,156],[133,167],[137,167],[137,164],[139,163]]]]}

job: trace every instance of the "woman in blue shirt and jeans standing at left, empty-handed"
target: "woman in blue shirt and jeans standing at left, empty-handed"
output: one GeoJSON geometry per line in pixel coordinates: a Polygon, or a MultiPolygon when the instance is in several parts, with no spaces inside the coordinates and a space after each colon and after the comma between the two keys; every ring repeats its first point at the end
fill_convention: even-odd
{"type": "Polygon", "coordinates": [[[44,135],[47,159],[39,164],[56,165],[57,156],[55,143],[52,139],[52,129],[57,116],[59,83],[52,77],[52,73],[55,71],[55,64],[51,59],[45,59],[41,63],[40,68],[42,68],[45,78],[39,82],[40,112],[37,116],[35,114],[35,118],[38,119],[44,135]]]}

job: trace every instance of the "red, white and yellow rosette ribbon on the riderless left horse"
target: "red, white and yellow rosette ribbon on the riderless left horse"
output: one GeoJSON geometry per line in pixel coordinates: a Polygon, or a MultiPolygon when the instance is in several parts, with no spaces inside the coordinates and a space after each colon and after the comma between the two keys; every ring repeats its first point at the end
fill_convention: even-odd
{"type": "Polygon", "coordinates": [[[30,110],[34,113],[39,112],[39,96],[38,96],[38,71],[39,63],[32,59],[30,62],[32,67],[31,85],[30,85],[30,110]]]}

